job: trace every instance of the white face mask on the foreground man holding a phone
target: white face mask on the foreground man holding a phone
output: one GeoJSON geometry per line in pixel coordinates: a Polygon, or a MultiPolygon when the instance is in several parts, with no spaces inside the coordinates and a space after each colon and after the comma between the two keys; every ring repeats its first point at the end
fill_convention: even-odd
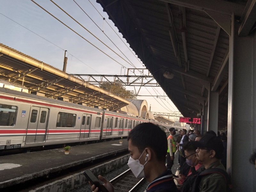
{"type": "MultiPolygon", "coordinates": [[[[145,151],[145,150],[144,150],[145,151]]],[[[144,153],[143,151],[143,153],[144,153]]],[[[142,153],[142,154],[143,154],[142,153]]],[[[142,156],[142,154],[140,155],[140,157],[142,156]]],[[[140,159],[140,158],[139,158],[140,159]]],[[[144,165],[140,164],[139,159],[134,160],[131,156],[129,158],[129,161],[127,163],[127,165],[129,166],[129,168],[132,170],[132,173],[135,175],[136,178],[140,179],[140,178],[145,178],[144,175],[144,165],[146,163],[148,163],[148,161],[146,161],[146,163],[144,165]]]]}

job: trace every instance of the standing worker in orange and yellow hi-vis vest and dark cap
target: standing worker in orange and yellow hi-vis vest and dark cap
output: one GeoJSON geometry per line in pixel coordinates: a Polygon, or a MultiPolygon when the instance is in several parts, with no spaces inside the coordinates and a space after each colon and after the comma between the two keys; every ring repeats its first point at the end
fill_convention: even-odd
{"type": "Polygon", "coordinates": [[[174,161],[174,154],[176,152],[176,141],[174,135],[176,134],[176,130],[174,127],[169,129],[170,135],[167,138],[168,141],[168,149],[167,149],[167,163],[166,168],[171,169],[174,161]]]}

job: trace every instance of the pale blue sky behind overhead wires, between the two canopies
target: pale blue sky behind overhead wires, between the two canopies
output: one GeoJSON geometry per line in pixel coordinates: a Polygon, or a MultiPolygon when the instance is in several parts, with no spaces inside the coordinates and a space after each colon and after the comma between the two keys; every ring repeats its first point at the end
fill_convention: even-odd
{"type": "MultiPolygon", "coordinates": [[[[108,19],[108,15],[103,12],[102,7],[96,3],[96,0],[75,0],[75,2],[91,17],[100,29],[73,0],[54,0],[54,2],[124,59],[117,56],[50,0],[35,0],[35,2],[117,62],[99,51],[30,0],[0,0],[0,43],[61,70],[63,68],[64,50],[67,50],[67,72],[73,74],[120,75],[122,65],[126,68],[133,68],[128,64],[130,61],[136,68],[143,68],[143,63],[128,48],[129,44],[124,44],[126,40],[122,38],[121,33],[118,32],[113,22],[108,19]],[[102,16],[90,2],[106,19],[104,33],[108,37],[102,32],[104,23],[102,16]],[[107,22],[123,41],[109,27],[107,22]]],[[[127,69],[125,71],[127,72],[127,69]]],[[[123,72],[124,69],[122,69],[122,75],[123,72]]],[[[127,86],[126,89],[134,91],[134,87],[131,86],[127,86]]],[[[138,89],[139,87],[136,87],[136,91],[138,89]]],[[[139,95],[150,95],[150,93],[152,95],[164,95],[161,87],[142,87],[139,95]]],[[[169,98],[164,98],[165,100],[163,97],[137,97],[137,99],[147,100],[148,108],[151,105],[151,111],[165,113],[178,111],[169,98]]]]}

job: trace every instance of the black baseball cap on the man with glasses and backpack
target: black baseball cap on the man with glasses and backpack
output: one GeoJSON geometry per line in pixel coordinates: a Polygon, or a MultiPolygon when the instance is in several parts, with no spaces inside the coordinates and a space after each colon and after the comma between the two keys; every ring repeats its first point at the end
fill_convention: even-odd
{"type": "Polygon", "coordinates": [[[213,134],[204,135],[199,141],[191,141],[195,147],[214,150],[216,157],[221,156],[224,146],[220,138],[213,134]]]}

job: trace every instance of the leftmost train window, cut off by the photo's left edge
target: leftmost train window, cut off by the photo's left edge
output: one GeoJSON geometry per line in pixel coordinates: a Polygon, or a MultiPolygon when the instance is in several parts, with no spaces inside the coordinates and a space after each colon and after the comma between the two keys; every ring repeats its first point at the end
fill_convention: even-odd
{"type": "Polygon", "coordinates": [[[0,104],[0,126],[13,126],[16,115],[16,106],[0,104]]]}

